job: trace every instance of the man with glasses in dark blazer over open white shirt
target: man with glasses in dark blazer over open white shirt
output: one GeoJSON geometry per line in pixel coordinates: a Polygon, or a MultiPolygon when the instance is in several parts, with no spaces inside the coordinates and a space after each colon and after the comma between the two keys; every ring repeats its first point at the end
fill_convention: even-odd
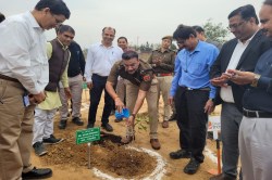
{"type": "MultiPolygon", "coordinates": [[[[270,41],[259,30],[255,8],[250,4],[234,10],[228,15],[228,29],[235,38],[223,44],[211,67],[213,86],[221,87],[215,103],[222,103],[221,136],[223,143],[223,173],[211,180],[236,179],[239,157],[238,130],[243,118],[242,98],[245,87],[225,81],[226,69],[252,72],[259,56],[270,48],[270,41]]],[[[242,177],[242,176],[240,176],[242,177]]]]}

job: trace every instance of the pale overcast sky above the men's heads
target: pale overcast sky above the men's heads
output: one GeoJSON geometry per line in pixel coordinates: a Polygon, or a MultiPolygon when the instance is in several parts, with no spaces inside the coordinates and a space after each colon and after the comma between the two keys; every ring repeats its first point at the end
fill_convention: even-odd
{"type": "MultiPolygon", "coordinates": [[[[34,9],[38,0],[0,0],[5,16],[34,9]]],[[[75,41],[82,48],[101,41],[102,28],[116,29],[114,43],[125,36],[131,44],[160,43],[173,35],[178,24],[203,25],[209,18],[227,27],[227,15],[238,7],[252,4],[257,15],[263,0],[64,0],[71,11],[64,24],[75,29],[75,41]]],[[[46,33],[48,40],[54,30],[46,33]]],[[[230,38],[233,36],[230,36],[230,38]]]]}

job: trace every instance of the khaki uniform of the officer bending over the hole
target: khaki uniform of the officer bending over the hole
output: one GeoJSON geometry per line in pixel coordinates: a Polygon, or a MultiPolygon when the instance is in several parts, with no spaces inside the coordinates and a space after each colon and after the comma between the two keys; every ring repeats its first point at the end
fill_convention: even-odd
{"type": "Polygon", "coordinates": [[[139,68],[134,75],[131,75],[125,72],[123,62],[119,61],[113,65],[108,81],[116,85],[119,76],[125,79],[126,106],[131,113],[135,106],[139,89],[148,91],[146,100],[148,104],[150,139],[158,139],[158,106],[153,103],[158,99],[158,80],[153,78],[152,68],[148,63],[140,60],[139,68]]]}

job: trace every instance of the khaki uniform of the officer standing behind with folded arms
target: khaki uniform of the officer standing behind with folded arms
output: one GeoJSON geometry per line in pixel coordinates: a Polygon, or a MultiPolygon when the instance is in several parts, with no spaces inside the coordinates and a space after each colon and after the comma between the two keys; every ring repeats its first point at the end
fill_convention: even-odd
{"type": "Polygon", "coordinates": [[[152,65],[154,74],[158,79],[158,103],[160,99],[160,92],[162,93],[163,104],[164,104],[164,113],[163,120],[168,121],[171,116],[171,106],[168,103],[171,82],[173,79],[173,72],[175,66],[175,52],[172,50],[165,50],[164,52],[161,49],[152,51],[149,56],[148,63],[152,65]],[[157,61],[160,61],[157,64],[157,61]]]}

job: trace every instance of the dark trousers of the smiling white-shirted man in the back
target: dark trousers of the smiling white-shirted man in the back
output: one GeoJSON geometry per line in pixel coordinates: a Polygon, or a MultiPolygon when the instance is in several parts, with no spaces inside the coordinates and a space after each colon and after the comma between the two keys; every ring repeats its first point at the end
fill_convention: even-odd
{"type": "Polygon", "coordinates": [[[102,125],[109,123],[109,116],[111,114],[111,110],[113,106],[113,100],[110,94],[106,91],[106,82],[108,77],[99,76],[94,74],[91,77],[92,80],[92,89],[90,90],[90,105],[89,105],[89,116],[88,116],[88,124],[95,124],[96,116],[97,116],[97,107],[101,99],[101,94],[104,90],[104,106],[103,106],[103,114],[102,114],[102,125]]]}

